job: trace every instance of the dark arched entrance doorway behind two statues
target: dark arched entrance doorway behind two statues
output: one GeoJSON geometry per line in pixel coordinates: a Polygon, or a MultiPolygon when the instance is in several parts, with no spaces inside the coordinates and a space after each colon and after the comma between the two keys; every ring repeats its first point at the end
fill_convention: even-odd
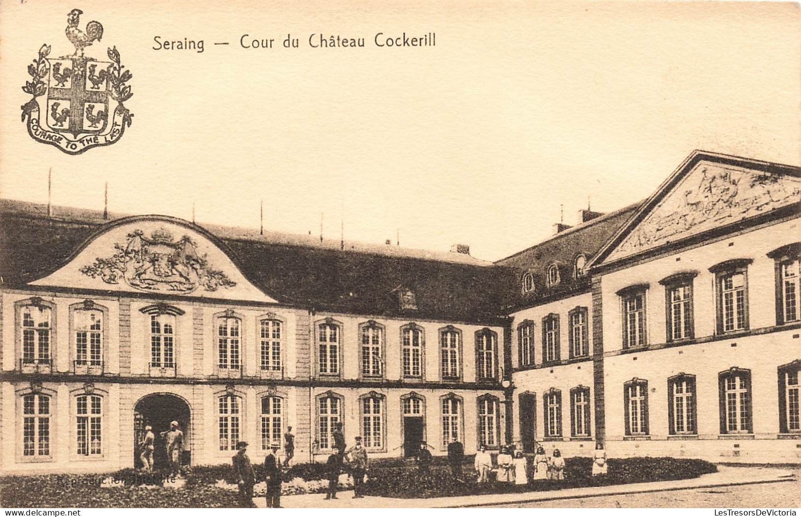
{"type": "Polygon", "coordinates": [[[146,395],[134,407],[134,465],[136,468],[142,467],[139,459],[139,443],[142,443],[145,435],[145,426],[153,427],[155,435],[155,450],[153,451],[153,463],[155,468],[166,467],[167,462],[167,442],[161,435],[164,431],[170,430],[171,421],[178,422],[179,429],[183,431],[183,457],[182,465],[191,463],[191,451],[189,450],[189,435],[191,433],[191,414],[189,404],[178,395],[171,393],[154,393],[146,395]]]}

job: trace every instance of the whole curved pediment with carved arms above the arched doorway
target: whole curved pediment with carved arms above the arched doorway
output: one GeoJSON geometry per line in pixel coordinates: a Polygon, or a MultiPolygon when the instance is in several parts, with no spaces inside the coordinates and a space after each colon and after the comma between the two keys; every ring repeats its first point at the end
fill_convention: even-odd
{"type": "Polygon", "coordinates": [[[61,268],[31,284],[275,302],[206,230],[141,216],[103,226],[61,268]]]}

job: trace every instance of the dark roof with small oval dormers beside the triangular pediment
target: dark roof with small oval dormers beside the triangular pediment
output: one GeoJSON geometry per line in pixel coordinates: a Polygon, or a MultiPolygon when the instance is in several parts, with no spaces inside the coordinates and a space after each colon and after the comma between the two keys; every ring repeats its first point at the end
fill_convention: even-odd
{"type": "Polygon", "coordinates": [[[590,288],[588,276],[574,278],[574,261],[583,254],[587,263],[598,253],[606,241],[634,214],[640,202],[620,210],[603,214],[590,221],[571,226],[543,242],[506,258],[501,258],[498,266],[510,267],[515,271],[515,287],[509,291],[507,310],[544,303],[549,299],[562,298],[590,288]],[[545,271],[551,264],[559,268],[559,283],[553,287],[545,285],[545,271]],[[522,276],[531,272],[534,278],[534,291],[522,292],[522,276]]]}

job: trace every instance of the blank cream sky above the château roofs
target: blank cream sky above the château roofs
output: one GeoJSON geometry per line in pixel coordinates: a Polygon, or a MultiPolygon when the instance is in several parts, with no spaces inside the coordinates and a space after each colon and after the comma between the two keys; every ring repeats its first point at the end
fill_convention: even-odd
{"type": "Polygon", "coordinates": [[[497,259],[646,198],[695,148],[798,164],[798,4],[0,2],[0,196],[497,259]],[[20,122],[26,66],[103,23],[135,117],[68,156],[20,122]],[[437,46],[377,48],[378,32],[437,46]],[[300,48],[280,42],[288,33],[300,48]],[[365,38],[312,49],[308,35],[365,38]],[[239,38],[276,38],[272,50],[239,38]],[[203,39],[153,50],[154,36],[203,39]],[[214,46],[213,42],[230,42],[214,46]]]}

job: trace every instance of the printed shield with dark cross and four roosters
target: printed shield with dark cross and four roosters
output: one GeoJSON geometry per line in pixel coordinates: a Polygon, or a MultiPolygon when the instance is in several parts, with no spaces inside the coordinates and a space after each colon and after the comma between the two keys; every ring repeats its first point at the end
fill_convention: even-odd
{"type": "Polygon", "coordinates": [[[87,58],[47,59],[47,126],[59,133],[99,134],[109,119],[111,62],[87,58]]]}

